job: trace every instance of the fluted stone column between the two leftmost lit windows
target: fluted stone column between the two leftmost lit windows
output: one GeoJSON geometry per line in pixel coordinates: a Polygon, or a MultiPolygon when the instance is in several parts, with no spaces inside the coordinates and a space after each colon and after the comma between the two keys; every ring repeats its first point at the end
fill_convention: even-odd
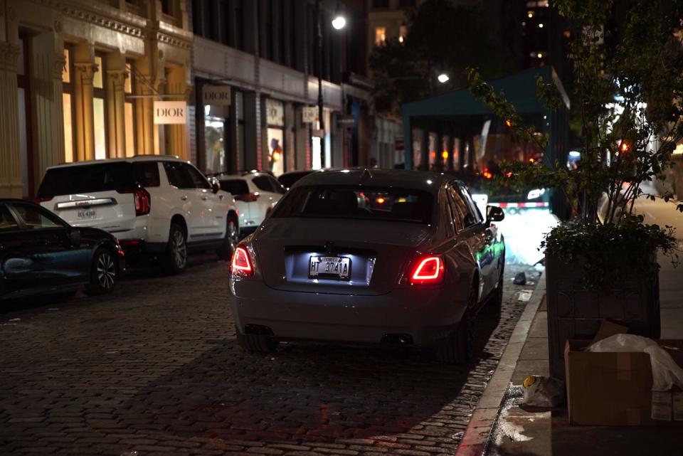
{"type": "Polygon", "coordinates": [[[75,62],[76,156],[78,161],[95,159],[95,124],[92,114],[93,62],[75,62]]]}

